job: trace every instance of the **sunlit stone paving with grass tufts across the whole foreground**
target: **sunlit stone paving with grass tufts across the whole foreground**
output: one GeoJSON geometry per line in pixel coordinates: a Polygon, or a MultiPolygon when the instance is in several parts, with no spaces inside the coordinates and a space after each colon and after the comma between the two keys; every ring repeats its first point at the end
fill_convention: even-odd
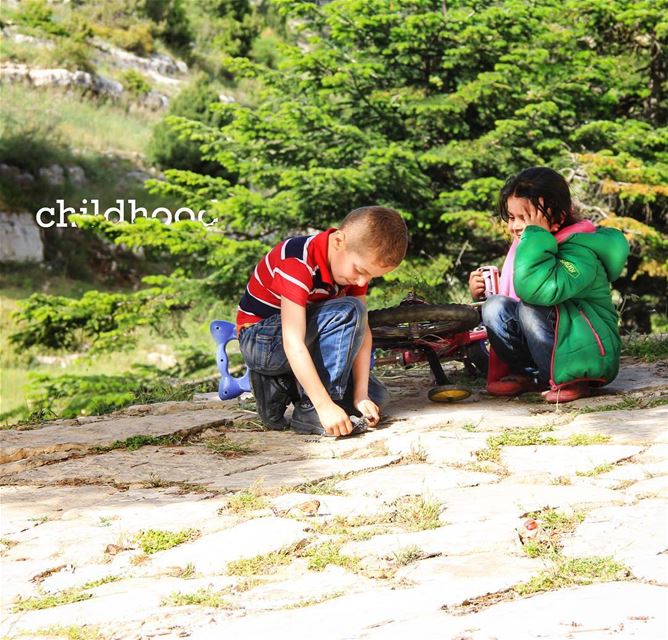
{"type": "Polygon", "coordinates": [[[560,407],[388,384],[341,440],[210,397],[0,432],[1,633],[668,637],[667,363],[560,407]]]}

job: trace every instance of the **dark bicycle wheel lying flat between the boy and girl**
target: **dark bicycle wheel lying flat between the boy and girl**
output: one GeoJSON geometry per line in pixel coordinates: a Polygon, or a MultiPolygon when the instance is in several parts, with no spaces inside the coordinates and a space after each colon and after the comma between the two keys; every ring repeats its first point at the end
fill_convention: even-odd
{"type": "Polygon", "coordinates": [[[472,329],[479,322],[478,309],[467,304],[412,304],[369,311],[371,333],[381,340],[457,333],[472,329]]]}

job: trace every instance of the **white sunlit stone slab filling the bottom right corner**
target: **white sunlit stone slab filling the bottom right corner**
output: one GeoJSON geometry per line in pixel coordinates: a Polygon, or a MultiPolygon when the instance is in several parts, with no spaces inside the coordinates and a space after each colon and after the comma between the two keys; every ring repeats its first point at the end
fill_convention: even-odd
{"type": "Polygon", "coordinates": [[[494,605],[478,613],[445,612],[388,621],[359,638],[370,640],[658,640],[668,629],[668,590],[617,582],[542,593],[494,605]]]}

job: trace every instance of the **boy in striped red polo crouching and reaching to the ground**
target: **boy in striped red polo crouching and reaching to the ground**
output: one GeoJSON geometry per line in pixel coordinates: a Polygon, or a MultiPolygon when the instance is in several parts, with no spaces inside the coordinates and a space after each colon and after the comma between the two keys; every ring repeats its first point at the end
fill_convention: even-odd
{"type": "Polygon", "coordinates": [[[366,292],[372,278],[399,265],[407,244],[396,211],[362,207],[339,229],[288,238],[260,260],[239,303],[237,332],[267,427],[287,428],[290,402],[297,433],[348,435],[356,412],[378,423],[388,393],[369,371],[366,292]]]}

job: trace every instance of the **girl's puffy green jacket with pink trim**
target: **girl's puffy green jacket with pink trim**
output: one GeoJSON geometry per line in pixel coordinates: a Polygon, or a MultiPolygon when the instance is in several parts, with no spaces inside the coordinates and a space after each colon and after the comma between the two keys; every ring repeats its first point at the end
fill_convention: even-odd
{"type": "Polygon", "coordinates": [[[629,245],[617,229],[580,222],[561,242],[529,226],[515,254],[513,284],[527,304],[556,306],[550,384],[607,384],[619,371],[619,315],[610,283],[621,275],[629,245]]]}

